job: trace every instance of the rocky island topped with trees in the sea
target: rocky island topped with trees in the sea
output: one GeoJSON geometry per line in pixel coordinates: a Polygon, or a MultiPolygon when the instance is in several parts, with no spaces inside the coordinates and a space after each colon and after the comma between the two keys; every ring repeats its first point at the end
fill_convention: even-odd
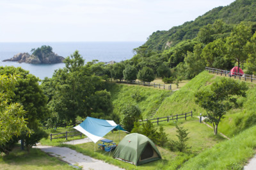
{"type": "Polygon", "coordinates": [[[52,47],[43,45],[37,49],[31,49],[32,54],[28,52],[18,53],[13,58],[4,59],[3,61],[18,61],[19,63],[31,63],[31,64],[54,64],[63,63],[65,58],[58,56],[52,52],[52,47]]]}

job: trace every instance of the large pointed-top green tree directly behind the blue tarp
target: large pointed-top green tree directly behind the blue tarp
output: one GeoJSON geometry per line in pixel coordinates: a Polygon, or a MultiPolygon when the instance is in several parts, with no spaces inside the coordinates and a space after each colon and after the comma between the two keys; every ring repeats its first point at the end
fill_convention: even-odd
{"type": "Polygon", "coordinates": [[[110,95],[107,91],[100,91],[104,88],[100,77],[91,74],[90,66],[84,66],[84,59],[78,51],[64,62],[66,68],[56,70],[52,79],[45,79],[42,83],[45,93],[51,97],[48,105],[52,113],[58,115],[59,121],[73,123],[77,116],[85,118],[92,113],[100,118],[104,114],[109,116],[112,111],[110,95]]]}

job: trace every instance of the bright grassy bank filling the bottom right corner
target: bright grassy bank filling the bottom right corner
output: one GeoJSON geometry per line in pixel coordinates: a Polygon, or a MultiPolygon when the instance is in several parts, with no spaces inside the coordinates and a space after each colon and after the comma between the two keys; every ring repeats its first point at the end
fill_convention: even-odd
{"type": "Polygon", "coordinates": [[[251,127],[189,159],[182,169],[242,169],[246,160],[255,154],[255,147],[256,127],[251,127]]]}

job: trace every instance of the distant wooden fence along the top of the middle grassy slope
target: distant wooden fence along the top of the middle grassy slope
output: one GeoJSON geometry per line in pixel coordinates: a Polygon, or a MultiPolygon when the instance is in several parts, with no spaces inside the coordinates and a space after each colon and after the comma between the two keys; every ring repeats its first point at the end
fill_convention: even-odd
{"type": "MultiPolygon", "coordinates": [[[[111,80],[111,81],[112,81],[112,80],[111,80]]],[[[126,83],[126,84],[138,84],[138,85],[141,85],[141,86],[148,86],[148,87],[154,87],[154,88],[159,88],[159,89],[168,89],[168,90],[172,90],[172,85],[158,84],[158,83],[155,83],[155,82],[120,81],[120,80],[116,80],[116,82],[126,83]]]]}

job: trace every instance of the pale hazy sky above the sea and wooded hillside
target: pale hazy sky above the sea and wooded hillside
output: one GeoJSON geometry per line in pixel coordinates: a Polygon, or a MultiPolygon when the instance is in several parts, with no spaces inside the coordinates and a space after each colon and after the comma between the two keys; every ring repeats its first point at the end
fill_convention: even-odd
{"type": "Polygon", "coordinates": [[[234,0],[1,0],[0,42],[146,41],[234,0]]]}

